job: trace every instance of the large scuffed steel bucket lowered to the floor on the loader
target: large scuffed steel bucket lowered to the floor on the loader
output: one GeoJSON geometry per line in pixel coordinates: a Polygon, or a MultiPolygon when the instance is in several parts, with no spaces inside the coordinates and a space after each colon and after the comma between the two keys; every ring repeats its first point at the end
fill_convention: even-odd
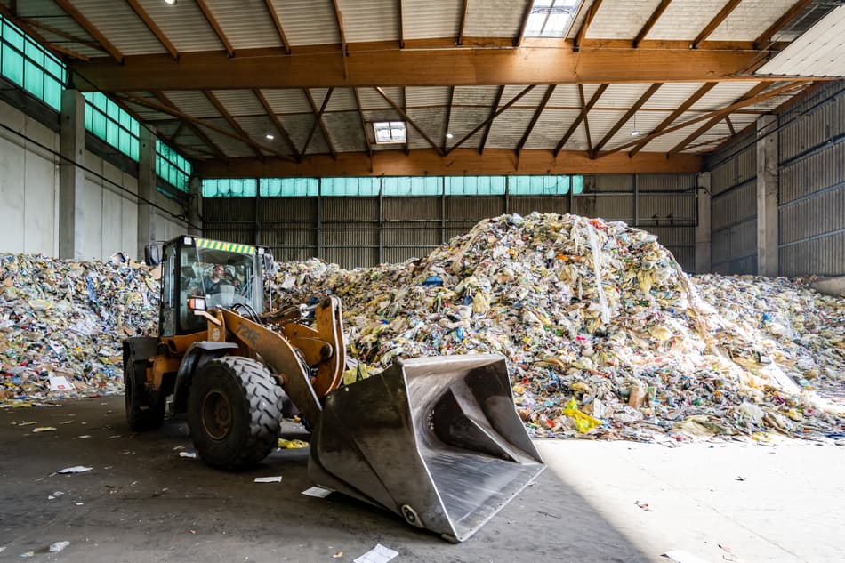
{"type": "Polygon", "coordinates": [[[541,471],[500,356],[400,361],[326,395],[311,438],[318,484],[452,542],[470,537],[541,471]]]}

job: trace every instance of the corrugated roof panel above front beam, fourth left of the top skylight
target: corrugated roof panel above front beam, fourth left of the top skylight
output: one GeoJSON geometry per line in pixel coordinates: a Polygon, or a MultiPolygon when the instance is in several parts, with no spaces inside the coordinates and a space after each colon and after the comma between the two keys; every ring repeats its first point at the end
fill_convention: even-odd
{"type": "Polygon", "coordinates": [[[273,5],[292,46],[341,43],[332,0],[273,0],[273,5]]]}

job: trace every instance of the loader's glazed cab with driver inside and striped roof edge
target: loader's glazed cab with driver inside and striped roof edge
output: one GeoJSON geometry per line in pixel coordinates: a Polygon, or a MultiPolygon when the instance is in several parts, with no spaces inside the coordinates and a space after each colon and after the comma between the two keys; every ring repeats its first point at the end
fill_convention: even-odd
{"type": "Polygon", "coordinates": [[[189,297],[205,297],[209,310],[238,305],[263,310],[262,267],[272,257],[261,247],[183,236],[166,242],[160,253],[148,247],[145,259],[161,265],[159,337],[206,329],[205,318],[189,310],[189,297]]]}

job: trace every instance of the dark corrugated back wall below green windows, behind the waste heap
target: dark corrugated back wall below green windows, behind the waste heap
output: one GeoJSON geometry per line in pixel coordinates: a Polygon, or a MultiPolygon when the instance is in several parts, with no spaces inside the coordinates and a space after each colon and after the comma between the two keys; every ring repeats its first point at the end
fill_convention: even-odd
{"type": "Polygon", "coordinates": [[[422,258],[503,213],[576,213],[648,230],[693,271],[696,185],[696,174],[606,174],[584,176],[577,195],[206,197],[203,234],[350,269],[422,258]]]}

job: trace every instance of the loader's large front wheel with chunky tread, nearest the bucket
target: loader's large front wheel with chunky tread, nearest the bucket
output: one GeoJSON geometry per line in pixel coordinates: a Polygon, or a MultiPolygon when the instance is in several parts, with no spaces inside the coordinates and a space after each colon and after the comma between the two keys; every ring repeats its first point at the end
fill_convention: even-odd
{"type": "Polygon", "coordinates": [[[192,378],[188,425],[204,462],[238,470],[262,461],[277,446],[284,391],[268,369],[250,358],[227,356],[192,378]]]}

